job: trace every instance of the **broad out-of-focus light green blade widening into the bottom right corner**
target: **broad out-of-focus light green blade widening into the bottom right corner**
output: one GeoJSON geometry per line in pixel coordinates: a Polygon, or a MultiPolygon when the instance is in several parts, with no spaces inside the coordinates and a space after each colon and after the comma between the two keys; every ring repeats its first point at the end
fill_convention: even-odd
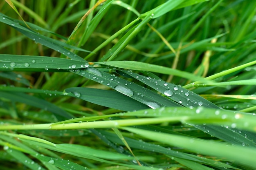
{"type": "Polygon", "coordinates": [[[218,157],[226,157],[231,160],[235,160],[239,163],[243,163],[247,166],[255,167],[254,155],[256,154],[255,148],[245,148],[243,146],[227,146],[220,142],[206,141],[202,139],[195,139],[192,137],[182,137],[178,135],[171,135],[166,133],[152,132],[148,130],[141,130],[136,128],[123,128],[130,132],[136,133],[141,137],[146,137],[153,141],[159,141],[161,143],[168,144],[170,146],[176,146],[189,149],[193,152],[212,155],[218,157]],[[179,142],[177,142],[179,141],[179,142]],[[209,145],[211,147],[209,147],[209,145]],[[218,148],[218,149],[216,149],[218,148]],[[245,155],[240,157],[240,155],[245,155]]]}

